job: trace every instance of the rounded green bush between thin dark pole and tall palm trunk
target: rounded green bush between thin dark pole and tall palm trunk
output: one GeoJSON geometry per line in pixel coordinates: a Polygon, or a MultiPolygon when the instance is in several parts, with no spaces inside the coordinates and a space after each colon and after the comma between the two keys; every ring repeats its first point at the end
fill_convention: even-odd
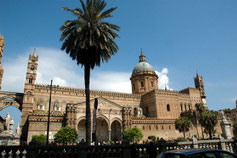
{"type": "Polygon", "coordinates": [[[77,132],[74,128],[63,127],[54,135],[54,141],[63,145],[74,144],[77,142],[77,132]]]}

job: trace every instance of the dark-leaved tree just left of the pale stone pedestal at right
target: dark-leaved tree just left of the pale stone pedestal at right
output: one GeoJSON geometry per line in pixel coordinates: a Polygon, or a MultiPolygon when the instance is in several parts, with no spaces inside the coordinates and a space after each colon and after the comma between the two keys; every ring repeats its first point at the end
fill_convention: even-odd
{"type": "Polygon", "coordinates": [[[215,126],[218,123],[217,112],[214,111],[202,112],[199,122],[201,126],[204,127],[204,132],[209,135],[210,139],[212,139],[212,136],[215,133],[215,126]]]}

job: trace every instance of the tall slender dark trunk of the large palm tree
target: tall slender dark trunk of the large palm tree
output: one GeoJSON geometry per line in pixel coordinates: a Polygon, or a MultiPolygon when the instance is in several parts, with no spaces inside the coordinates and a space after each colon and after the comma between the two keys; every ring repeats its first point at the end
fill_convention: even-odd
{"type": "Polygon", "coordinates": [[[90,66],[85,64],[85,93],[86,93],[86,143],[91,145],[91,110],[90,110],[90,66]]]}

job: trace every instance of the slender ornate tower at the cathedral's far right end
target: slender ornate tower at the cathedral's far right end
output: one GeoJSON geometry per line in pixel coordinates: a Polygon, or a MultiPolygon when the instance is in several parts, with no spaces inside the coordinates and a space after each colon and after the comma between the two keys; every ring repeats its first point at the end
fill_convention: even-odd
{"type": "Polygon", "coordinates": [[[206,103],[204,82],[203,82],[202,76],[200,76],[198,73],[196,74],[196,77],[194,77],[194,84],[195,84],[195,88],[197,88],[200,91],[202,103],[205,106],[207,103],[206,103]]]}

